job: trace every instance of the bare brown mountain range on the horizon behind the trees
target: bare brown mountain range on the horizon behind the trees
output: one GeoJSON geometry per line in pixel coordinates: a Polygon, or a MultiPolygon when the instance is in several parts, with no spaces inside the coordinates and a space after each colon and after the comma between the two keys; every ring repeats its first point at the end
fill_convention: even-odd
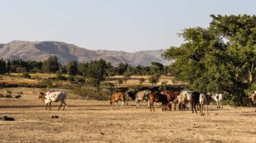
{"type": "Polygon", "coordinates": [[[111,62],[114,66],[121,62],[128,63],[132,66],[149,66],[151,62],[160,62],[164,65],[168,65],[171,62],[163,60],[160,57],[163,52],[163,49],[146,50],[135,53],[89,50],[87,48],[79,48],[73,44],[56,41],[27,42],[15,40],[7,44],[0,44],[0,57],[5,60],[20,58],[23,60],[44,61],[50,58],[50,56],[55,55],[62,64],[72,60],[88,62],[102,58],[107,62],[111,62]]]}

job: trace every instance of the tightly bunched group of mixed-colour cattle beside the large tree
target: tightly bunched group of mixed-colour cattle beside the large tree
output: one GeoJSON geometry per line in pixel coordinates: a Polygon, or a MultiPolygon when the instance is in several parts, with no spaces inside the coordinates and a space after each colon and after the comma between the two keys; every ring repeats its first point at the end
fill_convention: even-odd
{"type": "Polygon", "coordinates": [[[162,92],[143,90],[135,91],[129,90],[127,92],[116,92],[111,96],[110,104],[116,102],[116,108],[118,108],[118,101],[121,101],[121,107],[124,107],[127,103],[127,95],[130,99],[135,101],[136,108],[140,108],[140,101],[148,102],[150,111],[154,111],[154,104],[161,103],[162,111],[172,110],[188,110],[188,107],[191,106],[192,113],[194,111],[197,113],[197,105],[200,108],[200,112],[204,112],[204,105],[208,105],[211,100],[215,100],[217,108],[223,108],[223,95],[216,94],[212,95],[210,93],[204,94],[196,91],[183,90],[173,91],[173,90],[164,90],[162,92]]]}

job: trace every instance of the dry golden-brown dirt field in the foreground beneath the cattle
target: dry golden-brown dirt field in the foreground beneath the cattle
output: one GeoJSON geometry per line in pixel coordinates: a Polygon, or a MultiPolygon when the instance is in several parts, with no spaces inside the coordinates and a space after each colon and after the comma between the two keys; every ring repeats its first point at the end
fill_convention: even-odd
{"type": "MultiPolygon", "coordinates": [[[[13,90],[13,89],[12,89],[13,90]]],[[[20,89],[24,90],[26,89],[20,89]]],[[[13,90],[13,93],[17,90],[13,90]]],[[[0,99],[0,116],[16,121],[0,121],[0,142],[256,142],[254,108],[218,110],[210,115],[186,112],[150,112],[110,108],[107,101],[67,99],[69,107],[45,111],[37,90],[28,90],[21,99],[0,99]],[[57,115],[59,118],[51,118],[57,115]]],[[[145,103],[143,104],[145,105],[145,103]]]]}

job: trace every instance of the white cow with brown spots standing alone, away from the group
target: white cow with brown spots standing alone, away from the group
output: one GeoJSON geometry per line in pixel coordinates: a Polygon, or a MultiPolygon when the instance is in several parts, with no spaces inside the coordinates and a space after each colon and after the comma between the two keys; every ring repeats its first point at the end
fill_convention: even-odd
{"type": "Polygon", "coordinates": [[[48,104],[51,110],[51,102],[58,102],[58,101],[60,101],[59,108],[61,108],[62,104],[64,104],[64,107],[63,107],[63,110],[64,110],[65,107],[68,106],[66,104],[66,97],[67,97],[67,94],[65,92],[48,92],[47,91],[46,93],[44,93],[40,91],[40,95],[38,99],[41,99],[45,102],[46,104],[45,110],[47,110],[48,104]]]}

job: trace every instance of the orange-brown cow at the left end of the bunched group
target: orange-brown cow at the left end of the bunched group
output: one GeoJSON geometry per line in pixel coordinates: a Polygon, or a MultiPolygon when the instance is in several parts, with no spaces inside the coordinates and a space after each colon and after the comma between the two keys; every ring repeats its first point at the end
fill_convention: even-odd
{"type": "Polygon", "coordinates": [[[116,108],[118,108],[118,101],[121,101],[121,108],[125,108],[126,103],[126,93],[125,92],[116,92],[113,95],[111,95],[110,98],[110,105],[112,107],[112,104],[116,102],[116,108]]]}

